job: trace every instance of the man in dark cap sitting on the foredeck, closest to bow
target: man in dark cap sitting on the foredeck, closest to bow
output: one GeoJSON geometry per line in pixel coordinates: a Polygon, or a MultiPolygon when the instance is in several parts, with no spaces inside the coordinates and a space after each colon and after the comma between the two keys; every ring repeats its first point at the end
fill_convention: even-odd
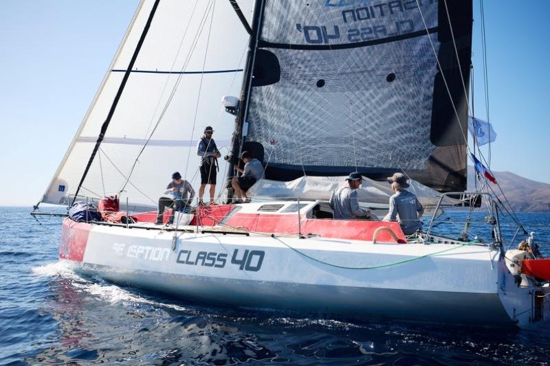
{"type": "Polygon", "coordinates": [[[172,209],[172,214],[170,214],[170,218],[168,218],[168,224],[173,224],[174,211],[184,211],[186,207],[189,207],[193,197],[195,197],[195,190],[193,190],[193,187],[191,187],[188,181],[181,179],[181,174],[179,174],[179,172],[175,172],[172,174],[172,181],[166,186],[164,194],[170,195],[173,198],[159,198],[157,225],[162,225],[162,216],[166,207],[172,209]],[[187,198],[187,195],[189,195],[189,198],[187,198]]]}

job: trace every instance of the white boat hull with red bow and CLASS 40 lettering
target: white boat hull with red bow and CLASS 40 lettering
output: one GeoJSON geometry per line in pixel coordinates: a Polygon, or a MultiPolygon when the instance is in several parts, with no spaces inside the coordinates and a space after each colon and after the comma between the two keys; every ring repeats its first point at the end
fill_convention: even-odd
{"type": "Polygon", "coordinates": [[[126,229],[65,219],[60,258],[111,282],[221,306],[520,327],[536,311],[550,318],[548,306],[534,308],[532,288],[518,287],[498,249],[485,246],[126,229]]]}

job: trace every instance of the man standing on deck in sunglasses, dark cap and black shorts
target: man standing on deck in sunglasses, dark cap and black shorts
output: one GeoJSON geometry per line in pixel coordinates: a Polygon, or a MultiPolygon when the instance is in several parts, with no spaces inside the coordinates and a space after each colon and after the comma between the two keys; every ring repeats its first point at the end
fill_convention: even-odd
{"type": "Polygon", "coordinates": [[[199,188],[199,205],[203,205],[202,197],[207,184],[210,184],[210,205],[214,204],[216,192],[216,174],[218,167],[217,158],[221,157],[220,152],[212,139],[214,129],[206,126],[204,135],[197,144],[197,155],[201,157],[201,187],[199,188]]]}

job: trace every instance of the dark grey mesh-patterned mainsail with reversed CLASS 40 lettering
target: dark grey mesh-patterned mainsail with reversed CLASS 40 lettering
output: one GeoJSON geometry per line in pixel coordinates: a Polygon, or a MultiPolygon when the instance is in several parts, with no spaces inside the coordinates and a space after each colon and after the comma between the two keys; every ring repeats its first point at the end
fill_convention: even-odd
{"type": "Polygon", "coordinates": [[[267,178],[465,190],[471,1],[265,0],[259,16],[243,135],[267,178]]]}

